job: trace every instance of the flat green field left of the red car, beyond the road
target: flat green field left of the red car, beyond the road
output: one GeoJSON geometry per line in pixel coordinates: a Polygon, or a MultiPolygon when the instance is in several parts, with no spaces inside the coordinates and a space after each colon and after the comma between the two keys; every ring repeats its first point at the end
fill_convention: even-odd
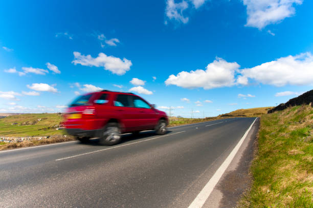
{"type": "Polygon", "coordinates": [[[55,113],[8,116],[0,119],[0,136],[63,135],[63,130],[55,129],[61,120],[62,116],[55,113]]]}

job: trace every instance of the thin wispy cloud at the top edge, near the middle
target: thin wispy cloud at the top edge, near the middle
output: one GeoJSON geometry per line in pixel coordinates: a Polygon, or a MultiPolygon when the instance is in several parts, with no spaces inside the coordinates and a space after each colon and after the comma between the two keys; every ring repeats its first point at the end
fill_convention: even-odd
{"type": "Polygon", "coordinates": [[[175,3],[174,0],[167,0],[165,14],[170,20],[183,22],[185,24],[189,20],[188,17],[184,17],[183,15],[186,9],[188,9],[188,3],[184,0],[180,3],[175,3]]]}

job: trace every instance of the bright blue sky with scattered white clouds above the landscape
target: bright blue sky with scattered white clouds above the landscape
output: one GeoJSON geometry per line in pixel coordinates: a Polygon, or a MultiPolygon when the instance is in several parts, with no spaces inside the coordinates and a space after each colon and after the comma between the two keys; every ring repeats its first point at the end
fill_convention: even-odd
{"type": "Polygon", "coordinates": [[[313,84],[308,0],[5,1],[0,112],[132,91],[174,115],[275,106],[313,84]],[[154,77],[154,78],[153,78],[154,77]]]}

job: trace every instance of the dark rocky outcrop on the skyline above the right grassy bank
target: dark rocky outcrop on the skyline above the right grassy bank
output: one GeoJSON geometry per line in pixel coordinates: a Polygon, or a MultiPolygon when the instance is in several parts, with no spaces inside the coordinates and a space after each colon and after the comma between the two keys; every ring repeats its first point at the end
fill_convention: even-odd
{"type": "Polygon", "coordinates": [[[267,111],[267,113],[274,113],[275,111],[282,111],[292,106],[309,105],[310,103],[313,103],[313,90],[307,91],[303,93],[302,95],[299,95],[298,97],[295,97],[293,99],[289,99],[288,102],[279,104],[272,110],[267,111]]]}

